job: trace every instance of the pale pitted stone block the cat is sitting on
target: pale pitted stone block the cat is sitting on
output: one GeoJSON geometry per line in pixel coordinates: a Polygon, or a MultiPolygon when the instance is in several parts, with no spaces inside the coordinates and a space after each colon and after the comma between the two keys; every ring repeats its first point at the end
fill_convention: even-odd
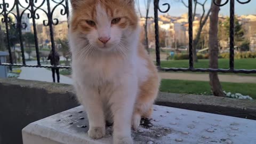
{"type": "MultiPolygon", "coordinates": [[[[256,143],[256,121],[154,106],[153,119],[141,121],[132,131],[134,144],[169,143],[256,143]]],[[[29,124],[22,130],[23,144],[110,144],[112,127],[99,140],[88,137],[88,120],[79,106],[29,124]]]]}

